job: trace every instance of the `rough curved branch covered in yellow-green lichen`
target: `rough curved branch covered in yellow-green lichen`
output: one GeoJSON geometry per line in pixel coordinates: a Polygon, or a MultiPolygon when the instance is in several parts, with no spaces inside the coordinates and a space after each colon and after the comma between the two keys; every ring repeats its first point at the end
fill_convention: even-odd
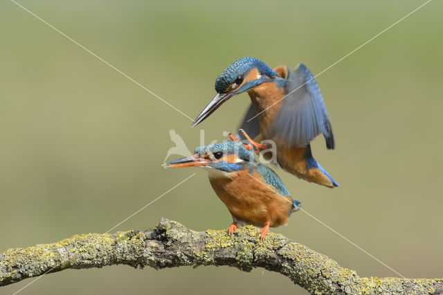
{"type": "Polygon", "coordinates": [[[243,271],[263,267],[290,278],[313,294],[443,294],[443,279],[360,278],[332,259],[269,233],[260,241],[246,226],[226,231],[191,231],[161,219],[153,231],[74,235],[53,244],[9,249],[0,254],[0,286],[46,271],[125,264],[156,269],[183,265],[229,265],[243,271]]]}

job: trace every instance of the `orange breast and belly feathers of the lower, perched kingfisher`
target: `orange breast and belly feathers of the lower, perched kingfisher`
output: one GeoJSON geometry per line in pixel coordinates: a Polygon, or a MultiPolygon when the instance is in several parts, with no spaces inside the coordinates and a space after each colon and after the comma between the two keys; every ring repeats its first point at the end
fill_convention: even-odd
{"type": "Polygon", "coordinates": [[[293,204],[291,197],[276,193],[257,172],[251,176],[248,170],[241,170],[235,177],[209,180],[234,220],[255,226],[264,226],[266,222],[273,227],[287,224],[293,204]]]}

